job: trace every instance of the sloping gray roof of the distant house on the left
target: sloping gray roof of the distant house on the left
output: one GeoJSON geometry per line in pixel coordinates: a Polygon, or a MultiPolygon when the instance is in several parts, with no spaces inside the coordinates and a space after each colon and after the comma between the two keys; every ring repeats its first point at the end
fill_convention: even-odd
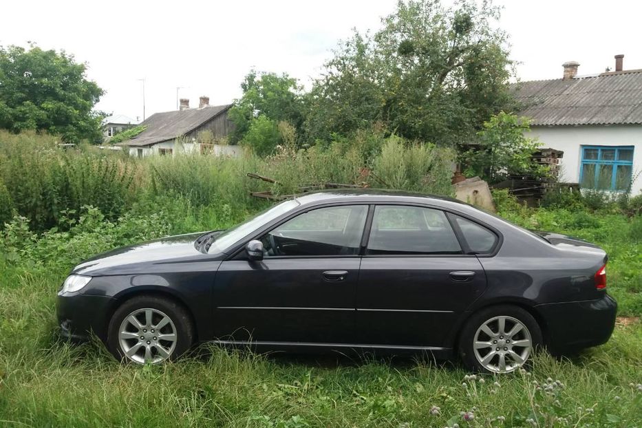
{"type": "Polygon", "coordinates": [[[164,111],[156,113],[140,125],[147,128],[131,140],[120,142],[118,145],[130,147],[145,147],[159,142],[171,141],[190,133],[205,122],[227,111],[231,104],[211,105],[202,109],[186,109],[182,111],[164,111]]]}

